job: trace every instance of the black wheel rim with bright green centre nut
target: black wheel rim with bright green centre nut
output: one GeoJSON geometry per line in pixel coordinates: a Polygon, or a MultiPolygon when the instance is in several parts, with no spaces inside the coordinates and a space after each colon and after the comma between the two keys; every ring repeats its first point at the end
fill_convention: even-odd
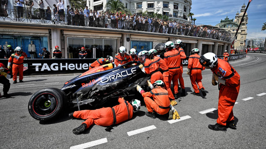
{"type": "Polygon", "coordinates": [[[39,116],[50,115],[57,108],[57,98],[51,93],[42,93],[34,99],[32,108],[39,116]]]}

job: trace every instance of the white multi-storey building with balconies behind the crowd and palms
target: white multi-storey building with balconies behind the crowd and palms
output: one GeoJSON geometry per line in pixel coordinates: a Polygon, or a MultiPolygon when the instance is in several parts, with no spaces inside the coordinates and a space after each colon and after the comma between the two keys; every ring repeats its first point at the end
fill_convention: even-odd
{"type": "MultiPolygon", "coordinates": [[[[120,0],[132,14],[148,11],[158,14],[164,14],[171,20],[176,20],[182,23],[192,23],[188,14],[191,10],[191,0],[120,0]]],[[[97,9],[105,11],[105,5],[108,0],[88,0],[87,6],[89,9],[97,9]]]]}

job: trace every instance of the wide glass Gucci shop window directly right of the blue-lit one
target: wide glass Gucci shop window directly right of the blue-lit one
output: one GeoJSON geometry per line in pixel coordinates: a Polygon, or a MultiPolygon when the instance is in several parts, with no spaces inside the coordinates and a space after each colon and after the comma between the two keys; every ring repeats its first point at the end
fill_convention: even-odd
{"type": "Polygon", "coordinates": [[[79,58],[79,52],[84,47],[87,52],[86,58],[101,58],[116,54],[117,39],[93,39],[67,37],[68,58],[79,58]]]}

